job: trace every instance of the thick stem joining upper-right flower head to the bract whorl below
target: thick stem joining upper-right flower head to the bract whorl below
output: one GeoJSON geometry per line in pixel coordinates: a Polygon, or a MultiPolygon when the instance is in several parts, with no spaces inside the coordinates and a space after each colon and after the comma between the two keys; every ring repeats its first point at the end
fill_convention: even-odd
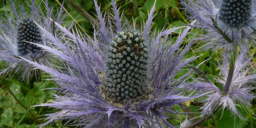
{"type": "Polygon", "coordinates": [[[234,75],[235,62],[236,62],[236,52],[232,50],[231,51],[231,56],[230,56],[228,78],[227,78],[227,81],[226,81],[225,86],[224,86],[223,91],[222,91],[222,93],[224,95],[228,94],[229,87],[231,85],[231,82],[232,82],[232,79],[233,79],[233,75],[234,75]]]}

